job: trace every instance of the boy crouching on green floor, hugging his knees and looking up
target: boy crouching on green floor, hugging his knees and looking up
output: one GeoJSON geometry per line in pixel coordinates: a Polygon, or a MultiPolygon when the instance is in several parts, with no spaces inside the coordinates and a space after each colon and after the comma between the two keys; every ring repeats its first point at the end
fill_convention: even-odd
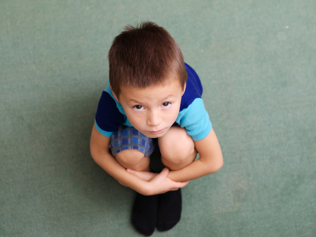
{"type": "Polygon", "coordinates": [[[132,211],[138,231],[168,230],[180,219],[179,188],[223,164],[201,82],[170,34],[149,21],[126,26],[108,59],[109,83],[95,116],[91,155],[138,192],[132,211]],[[154,149],[165,166],[161,173],[150,172],[154,149]]]}

